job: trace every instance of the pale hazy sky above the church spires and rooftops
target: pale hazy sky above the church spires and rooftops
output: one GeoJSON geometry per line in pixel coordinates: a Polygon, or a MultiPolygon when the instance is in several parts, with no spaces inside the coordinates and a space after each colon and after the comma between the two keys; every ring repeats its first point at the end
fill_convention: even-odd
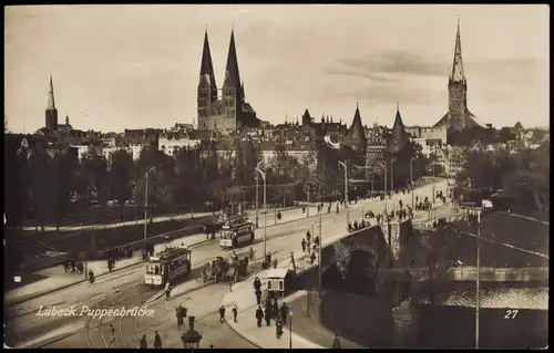
{"type": "Polygon", "coordinates": [[[246,98],[270,123],[306,108],[350,124],[432,125],[448,111],[460,18],[468,105],[481,124],[548,126],[545,4],[144,4],[4,8],[9,129],[122,132],[196,122],[207,27],[222,87],[232,25],[246,98]]]}

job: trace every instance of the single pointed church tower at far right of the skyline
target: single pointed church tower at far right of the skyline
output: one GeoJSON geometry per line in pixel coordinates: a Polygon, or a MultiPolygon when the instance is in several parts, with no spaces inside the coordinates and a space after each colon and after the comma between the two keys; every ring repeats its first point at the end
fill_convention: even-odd
{"type": "Polygon", "coordinates": [[[462,129],[466,127],[468,82],[463,73],[462,42],[460,40],[460,20],[455,34],[454,60],[449,76],[449,117],[448,126],[462,129]]]}

